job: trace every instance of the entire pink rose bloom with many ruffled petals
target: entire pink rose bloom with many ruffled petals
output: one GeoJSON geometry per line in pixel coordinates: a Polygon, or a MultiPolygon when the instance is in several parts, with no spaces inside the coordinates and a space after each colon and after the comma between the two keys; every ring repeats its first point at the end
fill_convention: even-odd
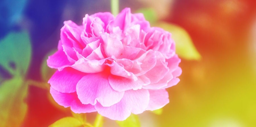
{"type": "Polygon", "coordinates": [[[164,107],[181,74],[171,34],[129,8],[86,14],[82,26],[65,21],[47,63],[58,69],[48,83],[59,105],[112,120],[164,107]]]}

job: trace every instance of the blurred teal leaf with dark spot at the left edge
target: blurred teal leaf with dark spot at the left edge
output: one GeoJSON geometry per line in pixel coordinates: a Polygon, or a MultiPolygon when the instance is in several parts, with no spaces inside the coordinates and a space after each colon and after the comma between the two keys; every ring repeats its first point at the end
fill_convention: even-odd
{"type": "Polygon", "coordinates": [[[0,41],[0,65],[12,75],[26,75],[31,45],[27,32],[9,33],[0,41]]]}

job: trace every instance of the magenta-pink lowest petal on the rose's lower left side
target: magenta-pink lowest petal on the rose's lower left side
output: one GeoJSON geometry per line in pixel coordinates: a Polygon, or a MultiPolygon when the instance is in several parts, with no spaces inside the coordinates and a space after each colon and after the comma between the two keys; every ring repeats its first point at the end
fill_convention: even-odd
{"type": "Polygon", "coordinates": [[[74,113],[91,113],[95,112],[93,105],[84,105],[77,98],[77,93],[61,93],[50,87],[50,93],[53,99],[61,106],[71,107],[74,113]]]}

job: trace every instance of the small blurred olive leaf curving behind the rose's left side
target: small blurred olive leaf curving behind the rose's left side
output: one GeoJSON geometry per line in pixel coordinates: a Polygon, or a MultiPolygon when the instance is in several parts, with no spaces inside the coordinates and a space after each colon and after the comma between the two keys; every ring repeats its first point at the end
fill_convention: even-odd
{"type": "Polygon", "coordinates": [[[51,76],[55,73],[56,69],[52,69],[47,66],[48,56],[52,55],[56,50],[52,50],[46,54],[41,65],[41,77],[44,81],[48,82],[51,76]]]}

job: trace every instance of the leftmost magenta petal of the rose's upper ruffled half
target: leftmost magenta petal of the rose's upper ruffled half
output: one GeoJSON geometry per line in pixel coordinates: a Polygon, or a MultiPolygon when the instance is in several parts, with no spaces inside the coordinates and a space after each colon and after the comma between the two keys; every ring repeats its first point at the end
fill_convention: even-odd
{"type": "Polygon", "coordinates": [[[66,54],[62,50],[58,50],[53,55],[48,57],[47,65],[51,68],[58,68],[61,66],[69,65],[66,54]]]}

